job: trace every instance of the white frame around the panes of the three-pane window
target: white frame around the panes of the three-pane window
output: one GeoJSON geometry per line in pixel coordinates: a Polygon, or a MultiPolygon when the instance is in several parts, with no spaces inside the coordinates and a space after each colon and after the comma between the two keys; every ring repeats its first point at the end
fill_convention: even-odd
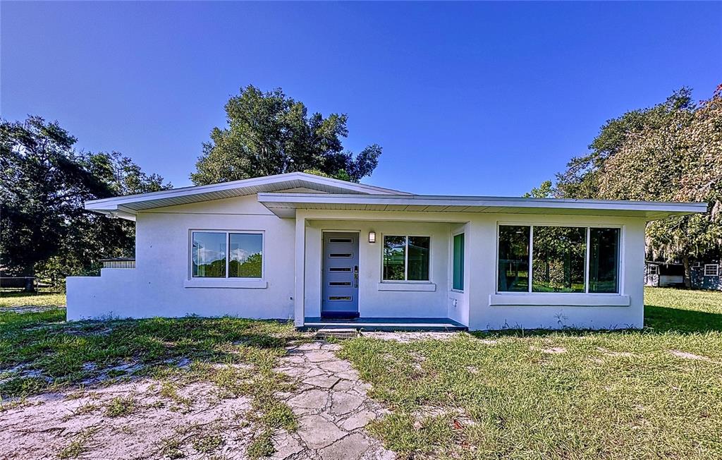
{"type": "Polygon", "coordinates": [[[614,224],[588,224],[584,222],[580,223],[557,223],[557,222],[506,222],[498,221],[496,228],[496,241],[495,241],[495,286],[494,292],[499,295],[622,295],[624,292],[624,273],[622,271],[624,267],[624,225],[614,224]],[[524,291],[500,291],[499,290],[499,239],[500,239],[500,227],[529,227],[529,287],[526,292],[524,291]],[[584,292],[538,292],[533,291],[533,277],[534,277],[534,227],[585,227],[586,228],[586,247],[584,251],[584,292]],[[591,238],[592,228],[616,228],[619,229],[619,242],[617,243],[617,292],[589,292],[589,243],[591,238]]]}

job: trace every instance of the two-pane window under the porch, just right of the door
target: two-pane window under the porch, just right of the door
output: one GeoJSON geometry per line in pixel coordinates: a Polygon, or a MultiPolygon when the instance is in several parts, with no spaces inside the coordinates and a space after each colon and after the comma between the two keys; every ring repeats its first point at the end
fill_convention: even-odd
{"type": "Polygon", "coordinates": [[[383,281],[429,281],[428,236],[383,237],[383,281]]]}

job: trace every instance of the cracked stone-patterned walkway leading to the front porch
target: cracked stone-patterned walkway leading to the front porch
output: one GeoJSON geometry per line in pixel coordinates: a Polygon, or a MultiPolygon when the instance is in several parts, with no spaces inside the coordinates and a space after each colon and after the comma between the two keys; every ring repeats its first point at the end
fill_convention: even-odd
{"type": "Polygon", "coordinates": [[[334,351],[336,344],[313,342],[289,347],[277,371],[298,381],[292,393],[280,394],[299,417],[296,433],[279,433],[273,459],[395,459],[365,433],[365,426],[388,413],[366,396],[367,383],[334,351]]]}

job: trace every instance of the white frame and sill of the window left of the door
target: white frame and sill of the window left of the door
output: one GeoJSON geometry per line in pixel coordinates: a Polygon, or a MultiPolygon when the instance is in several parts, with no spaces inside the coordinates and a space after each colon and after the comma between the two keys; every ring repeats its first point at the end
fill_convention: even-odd
{"type": "Polygon", "coordinates": [[[266,287],[266,232],[264,230],[220,230],[220,229],[204,229],[193,228],[188,230],[188,278],[183,285],[185,287],[266,287]],[[226,276],[221,277],[194,277],[193,276],[193,233],[225,233],[226,235],[226,276]],[[261,277],[260,278],[242,278],[229,277],[228,264],[230,262],[230,234],[241,233],[250,235],[261,235],[261,277]],[[214,280],[216,282],[211,282],[214,280]],[[221,282],[225,286],[217,286],[221,282]],[[263,285],[263,286],[261,286],[263,285]]]}

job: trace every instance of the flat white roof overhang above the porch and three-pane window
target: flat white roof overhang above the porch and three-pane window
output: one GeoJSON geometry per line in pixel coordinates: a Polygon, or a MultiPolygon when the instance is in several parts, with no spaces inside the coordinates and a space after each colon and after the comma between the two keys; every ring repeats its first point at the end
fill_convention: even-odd
{"type": "Polygon", "coordinates": [[[259,193],[258,202],[278,217],[295,217],[296,209],[355,211],[487,212],[643,217],[658,220],[707,211],[706,203],[516,198],[508,196],[431,196],[259,193]]]}

